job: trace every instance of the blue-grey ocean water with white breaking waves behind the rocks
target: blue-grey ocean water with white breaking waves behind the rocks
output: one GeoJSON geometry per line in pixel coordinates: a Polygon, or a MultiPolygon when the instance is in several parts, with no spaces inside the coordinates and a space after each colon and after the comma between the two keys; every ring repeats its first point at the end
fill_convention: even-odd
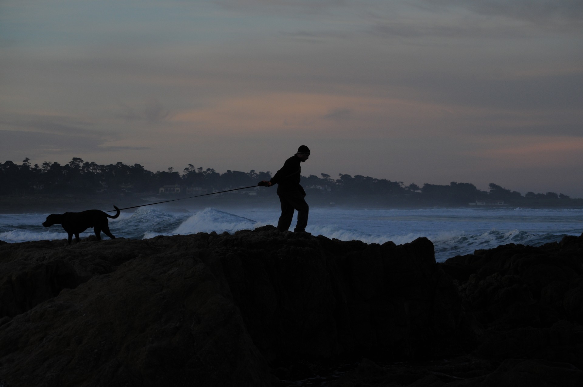
{"type": "MultiPolygon", "coordinates": [[[[278,208],[222,210],[206,208],[191,212],[172,212],[164,207],[140,207],[122,211],[110,219],[116,237],[152,238],[156,235],[194,234],[253,229],[276,225],[278,208]]],[[[45,228],[47,214],[0,214],[0,240],[24,242],[65,239],[60,225],[45,228]]],[[[294,222],[291,225],[293,230],[294,222]]],[[[538,246],[559,241],[565,235],[583,232],[582,209],[521,208],[431,208],[431,209],[341,209],[310,208],[307,231],[339,240],[360,240],[382,244],[402,244],[427,237],[435,245],[436,260],[445,261],[475,249],[493,248],[507,243],[538,246]]],[[[80,236],[87,237],[87,230],[80,236]]],[[[105,234],[101,237],[107,239],[105,234]]]]}

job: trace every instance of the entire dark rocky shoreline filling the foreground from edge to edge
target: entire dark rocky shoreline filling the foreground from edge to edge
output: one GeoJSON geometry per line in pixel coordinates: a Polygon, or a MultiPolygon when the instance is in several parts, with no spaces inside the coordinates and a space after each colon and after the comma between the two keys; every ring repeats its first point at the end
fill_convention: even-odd
{"type": "Polygon", "coordinates": [[[0,386],[583,385],[583,235],[433,244],[272,226],[0,244],[0,386]],[[447,361],[444,361],[447,360],[447,361]]]}

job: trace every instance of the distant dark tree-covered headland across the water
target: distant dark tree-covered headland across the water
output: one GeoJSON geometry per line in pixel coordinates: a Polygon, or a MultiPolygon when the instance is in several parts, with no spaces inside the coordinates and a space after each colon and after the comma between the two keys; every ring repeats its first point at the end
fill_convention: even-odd
{"type": "MultiPolygon", "coordinates": [[[[32,195],[34,193],[158,193],[165,185],[199,187],[223,190],[247,187],[261,180],[271,179],[271,172],[249,172],[227,170],[218,173],[213,168],[195,167],[188,164],[182,173],[168,168],[167,171],[148,171],[140,164],[128,166],[118,162],[103,165],[73,157],[61,165],[45,161],[40,166],[31,166],[28,158],[18,165],[12,161],[0,164],[0,195],[32,195]]],[[[302,177],[304,187],[322,195],[384,195],[409,200],[440,201],[445,203],[469,203],[487,200],[517,202],[525,199],[569,199],[563,193],[511,191],[491,183],[489,191],[481,191],[471,183],[451,182],[449,185],[415,183],[377,179],[363,175],[339,174],[334,179],[322,173],[320,176],[302,177]]]]}

